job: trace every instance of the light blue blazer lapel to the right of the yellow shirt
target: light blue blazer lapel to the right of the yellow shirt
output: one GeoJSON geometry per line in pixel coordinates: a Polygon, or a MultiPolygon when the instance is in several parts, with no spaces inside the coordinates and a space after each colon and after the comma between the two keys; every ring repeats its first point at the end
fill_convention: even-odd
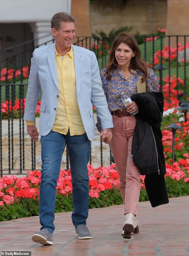
{"type": "Polygon", "coordinates": [[[74,51],[74,65],[75,65],[75,83],[76,83],[76,92],[79,95],[80,87],[81,87],[81,75],[83,68],[83,56],[78,51],[79,47],[73,45],[74,51]]]}

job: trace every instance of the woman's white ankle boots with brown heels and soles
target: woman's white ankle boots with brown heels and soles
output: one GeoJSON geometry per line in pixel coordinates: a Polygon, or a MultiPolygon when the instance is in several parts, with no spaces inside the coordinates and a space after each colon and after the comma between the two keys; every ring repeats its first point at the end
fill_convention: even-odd
{"type": "Polygon", "coordinates": [[[133,213],[126,213],[122,232],[123,238],[130,239],[131,234],[134,233],[139,233],[137,216],[133,213]]]}

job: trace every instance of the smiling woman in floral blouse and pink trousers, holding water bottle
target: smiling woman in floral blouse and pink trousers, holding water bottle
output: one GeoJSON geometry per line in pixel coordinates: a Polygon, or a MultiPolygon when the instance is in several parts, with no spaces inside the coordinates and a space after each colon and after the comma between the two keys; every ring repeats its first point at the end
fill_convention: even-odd
{"type": "MultiPolygon", "coordinates": [[[[145,82],[147,92],[158,92],[158,79],[142,59],[136,39],[127,32],[120,33],[114,39],[108,65],[100,71],[100,75],[114,124],[109,146],[120,176],[120,192],[125,211],[123,237],[130,239],[131,233],[139,232],[137,208],[140,196],[140,171],[130,157],[136,125],[136,118],[131,114],[139,110],[139,107],[133,101],[128,103],[126,108],[121,100],[121,93],[129,97],[136,94],[138,82],[145,82]]],[[[97,129],[101,131],[98,118],[97,121],[97,129]]]]}

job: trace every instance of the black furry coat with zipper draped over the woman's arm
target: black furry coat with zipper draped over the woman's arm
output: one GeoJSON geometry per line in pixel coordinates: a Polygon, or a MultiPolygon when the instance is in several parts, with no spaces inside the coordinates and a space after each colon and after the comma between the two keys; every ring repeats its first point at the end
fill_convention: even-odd
{"type": "Polygon", "coordinates": [[[169,202],[165,184],[165,157],[161,125],[164,97],[161,92],[137,93],[131,97],[139,107],[131,154],[134,164],[145,174],[145,187],[151,206],[169,202]]]}

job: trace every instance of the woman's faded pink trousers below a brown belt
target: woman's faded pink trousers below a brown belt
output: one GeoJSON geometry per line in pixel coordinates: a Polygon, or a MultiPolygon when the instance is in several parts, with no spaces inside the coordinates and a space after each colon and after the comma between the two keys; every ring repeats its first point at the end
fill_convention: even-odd
{"type": "Polygon", "coordinates": [[[125,206],[125,213],[137,215],[140,196],[140,171],[134,165],[131,155],[133,131],[136,125],[134,116],[112,116],[112,140],[109,144],[117,171],[120,176],[120,192],[125,206]]]}

